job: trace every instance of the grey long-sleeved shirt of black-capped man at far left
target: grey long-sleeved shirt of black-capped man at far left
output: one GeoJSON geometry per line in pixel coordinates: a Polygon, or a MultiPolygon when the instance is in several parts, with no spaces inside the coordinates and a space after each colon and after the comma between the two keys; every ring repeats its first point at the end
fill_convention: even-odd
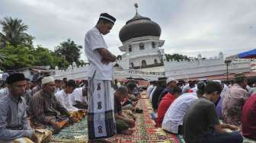
{"type": "Polygon", "coordinates": [[[26,101],[11,94],[0,99],[0,140],[28,137],[34,131],[27,122],[26,101]]]}

